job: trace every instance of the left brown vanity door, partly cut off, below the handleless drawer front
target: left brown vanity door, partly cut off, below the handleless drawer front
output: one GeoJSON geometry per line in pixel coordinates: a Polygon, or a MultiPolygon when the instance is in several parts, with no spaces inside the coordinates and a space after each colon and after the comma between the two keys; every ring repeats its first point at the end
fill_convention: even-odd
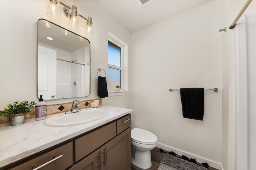
{"type": "Polygon", "coordinates": [[[68,170],[100,170],[100,149],[74,164],[68,170]]]}

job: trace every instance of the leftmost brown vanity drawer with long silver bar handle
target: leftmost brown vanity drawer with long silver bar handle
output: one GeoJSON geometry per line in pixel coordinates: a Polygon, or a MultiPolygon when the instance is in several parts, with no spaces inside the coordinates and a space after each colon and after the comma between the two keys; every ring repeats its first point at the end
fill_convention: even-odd
{"type": "Polygon", "coordinates": [[[70,142],[41,156],[36,156],[36,158],[15,166],[11,170],[32,170],[41,165],[42,168],[40,170],[64,170],[73,164],[72,150],[73,145],[70,142]],[[46,162],[50,163],[47,164],[46,162]]]}

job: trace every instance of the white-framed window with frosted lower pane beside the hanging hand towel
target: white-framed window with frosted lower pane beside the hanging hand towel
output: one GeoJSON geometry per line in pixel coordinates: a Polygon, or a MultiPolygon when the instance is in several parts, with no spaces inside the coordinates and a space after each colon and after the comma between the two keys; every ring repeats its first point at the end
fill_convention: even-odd
{"type": "Polygon", "coordinates": [[[122,46],[108,40],[108,89],[122,88],[122,46]]]}

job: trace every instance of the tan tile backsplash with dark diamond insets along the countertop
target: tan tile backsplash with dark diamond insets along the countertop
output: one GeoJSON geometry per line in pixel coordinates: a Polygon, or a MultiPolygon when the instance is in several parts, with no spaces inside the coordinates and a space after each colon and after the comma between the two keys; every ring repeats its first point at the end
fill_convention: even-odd
{"type": "MultiPolygon", "coordinates": [[[[79,101],[79,104],[81,105],[80,109],[91,108],[91,103],[94,100],[100,100],[99,105],[102,105],[102,99],[81,100],[79,101]]],[[[47,105],[47,115],[66,112],[72,107],[72,103],[73,102],[47,105]]],[[[35,118],[35,114],[36,114],[35,107],[32,107],[30,109],[30,112],[26,114],[25,119],[35,118]]],[[[0,116],[0,124],[8,123],[8,122],[10,122],[8,117],[0,116]]]]}

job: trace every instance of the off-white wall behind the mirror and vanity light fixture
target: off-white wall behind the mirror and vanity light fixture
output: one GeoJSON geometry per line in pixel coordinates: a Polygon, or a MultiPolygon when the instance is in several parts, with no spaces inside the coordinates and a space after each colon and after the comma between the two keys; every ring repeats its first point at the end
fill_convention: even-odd
{"type": "MultiPolygon", "coordinates": [[[[0,109],[14,101],[34,100],[36,96],[36,65],[37,65],[37,21],[40,18],[69,29],[84,37],[83,29],[68,27],[68,19],[61,12],[60,20],[52,20],[46,15],[46,0],[1,0],[0,1],[0,109]],[[10,8],[6,8],[9,6],[10,8]],[[8,14],[8,17],[6,17],[8,14]]],[[[107,72],[108,31],[128,44],[130,56],[130,33],[94,0],[63,1],[75,5],[83,16],[91,16],[94,22],[94,35],[88,38],[91,43],[91,94],[78,100],[96,99],[97,68],[107,72]]],[[[84,23],[80,18],[80,27],[84,23]]],[[[130,61],[129,61],[130,62],[130,61]]],[[[128,66],[130,66],[128,64],[128,66]]],[[[130,74],[128,74],[130,79],[130,74]]],[[[130,86],[130,84],[129,84],[130,86]]],[[[103,99],[103,104],[130,108],[130,96],[110,97],[103,99]]],[[[72,102],[76,98],[47,100],[47,104],[72,102]]]]}

